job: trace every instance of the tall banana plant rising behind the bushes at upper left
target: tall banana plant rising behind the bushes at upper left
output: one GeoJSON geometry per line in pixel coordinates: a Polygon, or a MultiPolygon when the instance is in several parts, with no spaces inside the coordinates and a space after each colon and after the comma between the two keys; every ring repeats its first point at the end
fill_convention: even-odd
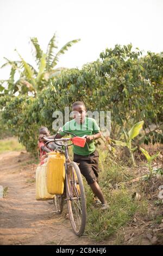
{"type": "Polygon", "coordinates": [[[7,65],[11,66],[10,77],[8,80],[0,81],[0,91],[4,89],[3,84],[8,83],[8,93],[14,94],[17,91],[20,93],[33,92],[36,93],[44,88],[49,80],[55,76],[58,76],[61,72],[61,69],[55,69],[55,66],[59,62],[59,57],[64,54],[68,48],[73,44],[76,44],[80,39],[72,40],[67,42],[59,51],[57,51],[58,46],[56,43],[56,35],[54,33],[53,37],[49,41],[47,51],[44,53],[41,50],[39,42],[36,37],[30,38],[32,45],[34,47],[34,56],[37,69],[32,65],[27,63],[22,56],[17,52],[20,60],[11,61],[7,58],[4,58],[6,62],[2,65],[1,68],[4,68],[7,65]],[[20,74],[19,79],[14,82],[15,72],[18,71],[20,74]]]}

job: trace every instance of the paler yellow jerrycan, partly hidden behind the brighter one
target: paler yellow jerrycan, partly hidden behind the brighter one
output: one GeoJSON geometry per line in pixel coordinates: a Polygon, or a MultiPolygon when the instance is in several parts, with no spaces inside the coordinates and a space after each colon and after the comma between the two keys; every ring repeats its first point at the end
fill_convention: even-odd
{"type": "Polygon", "coordinates": [[[49,194],[46,187],[46,164],[36,168],[36,200],[50,200],[54,194],[49,194]]]}

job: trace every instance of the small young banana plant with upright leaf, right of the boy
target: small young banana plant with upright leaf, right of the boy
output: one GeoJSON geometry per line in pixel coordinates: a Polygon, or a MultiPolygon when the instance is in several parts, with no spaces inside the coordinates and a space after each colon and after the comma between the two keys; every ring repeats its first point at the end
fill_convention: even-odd
{"type": "Polygon", "coordinates": [[[122,141],[116,141],[114,139],[112,139],[111,141],[113,143],[115,143],[116,145],[120,145],[122,147],[127,147],[130,151],[130,156],[131,156],[131,160],[133,162],[133,165],[136,166],[135,163],[135,159],[134,159],[134,151],[137,149],[137,147],[132,148],[131,147],[131,141],[137,136],[139,135],[140,130],[142,129],[142,126],[144,124],[144,121],[140,121],[136,124],[134,124],[134,126],[129,130],[129,132],[126,132],[123,128],[123,133],[124,133],[124,137],[126,139],[126,142],[122,142],[122,141]]]}

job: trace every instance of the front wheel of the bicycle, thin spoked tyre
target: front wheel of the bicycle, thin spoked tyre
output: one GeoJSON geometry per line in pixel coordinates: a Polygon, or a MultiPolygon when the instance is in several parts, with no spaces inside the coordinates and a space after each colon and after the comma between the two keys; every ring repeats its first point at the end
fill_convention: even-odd
{"type": "Polygon", "coordinates": [[[80,236],[84,233],[86,223],[86,199],[82,174],[78,164],[68,164],[66,174],[66,197],[68,214],[73,231],[80,236]]]}

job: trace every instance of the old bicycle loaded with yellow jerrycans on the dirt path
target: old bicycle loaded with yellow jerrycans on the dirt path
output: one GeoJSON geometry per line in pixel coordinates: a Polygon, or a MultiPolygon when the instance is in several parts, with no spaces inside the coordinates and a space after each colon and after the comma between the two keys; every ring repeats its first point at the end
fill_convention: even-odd
{"type": "MultiPolygon", "coordinates": [[[[65,132],[65,131],[64,131],[65,132]]],[[[65,151],[61,153],[65,154],[66,162],[65,162],[65,181],[64,181],[64,193],[61,195],[57,195],[54,197],[54,205],[58,207],[59,213],[61,214],[64,208],[64,200],[67,201],[68,215],[70,217],[70,222],[74,233],[78,236],[81,236],[85,230],[86,224],[86,199],[85,199],[85,190],[82,179],[82,174],[80,173],[80,169],[78,163],[70,160],[68,156],[68,147],[73,144],[76,144],[77,141],[82,142],[83,145],[86,142],[85,138],[77,137],[71,132],[65,132],[73,135],[73,138],[60,138],[60,139],[49,139],[47,137],[43,137],[45,141],[48,142],[57,142],[62,141],[62,147],[65,148],[65,151]],[[74,139],[76,137],[76,139],[74,139]],[[68,144],[68,141],[72,141],[71,144],[68,144]]],[[[57,133],[58,134],[58,133],[57,133]]],[[[57,135],[56,135],[57,136],[57,135]]],[[[55,137],[56,137],[55,136],[55,137]]],[[[45,143],[45,144],[46,144],[45,143]]],[[[80,144],[80,143],[77,143],[80,144]]],[[[60,144],[57,144],[60,146],[60,144]]],[[[84,147],[84,146],[83,146],[84,147]]]]}

